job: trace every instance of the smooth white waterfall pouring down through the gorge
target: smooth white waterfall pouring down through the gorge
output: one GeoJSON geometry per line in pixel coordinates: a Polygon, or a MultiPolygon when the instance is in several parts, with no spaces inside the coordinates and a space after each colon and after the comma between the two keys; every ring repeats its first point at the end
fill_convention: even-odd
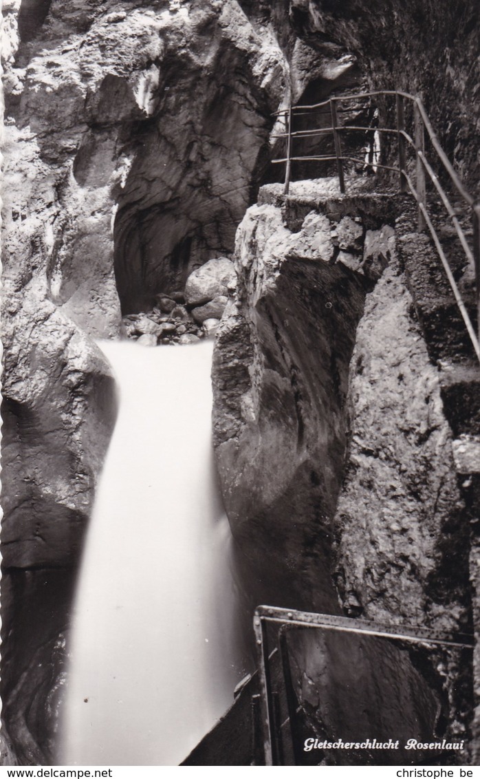
{"type": "Polygon", "coordinates": [[[99,345],[120,407],[79,576],[59,763],[177,765],[245,672],[212,464],[212,343],[99,345]]]}

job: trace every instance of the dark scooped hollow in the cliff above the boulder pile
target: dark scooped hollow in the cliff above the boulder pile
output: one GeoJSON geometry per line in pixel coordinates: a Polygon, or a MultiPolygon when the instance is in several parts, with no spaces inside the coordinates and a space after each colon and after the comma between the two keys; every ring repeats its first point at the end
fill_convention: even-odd
{"type": "Polygon", "coordinates": [[[272,106],[244,52],[221,45],[215,59],[212,75],[198,83],[172,57],[163,79],[175,77],[175,90],[165,91],[161,113],[131,128],[135,160],[114,226],[124,314],[148,310],[159,292],[182,289],[195,267],[231,254],[256,196],[272,106]]]}

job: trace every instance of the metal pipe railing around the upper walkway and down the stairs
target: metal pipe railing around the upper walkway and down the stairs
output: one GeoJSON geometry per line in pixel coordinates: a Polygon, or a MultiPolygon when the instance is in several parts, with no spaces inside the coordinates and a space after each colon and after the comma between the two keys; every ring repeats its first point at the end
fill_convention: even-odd
{"type": "Polygon", "coordinates": [[[480,361],[480,202],[475,201],[475,198],[464,188],[461,179],[458,177],[454,167],[450,163],[446,153],[443,151],[436,133],[433,130],[433,126],[429,120],[426,110],[422,104],[422,100],[415,95],[402,92],[400,90],[378,90],[373,92],[363,92],[358,94],[342,95],[342,97],[331,97],[328,100],[323,100],[321,103],[314,105],[290,105],[289,108],[282,111],[275,111],[275,116],[283,118],[286,125],[286,132],[275,133],[273,136],[276,139],[286,139],[286,157],[272,160],[274,164],[285,163],[286,175],[285,175],[285,189],[286,195],[289,194],[289,186],[292,175],[292,163],[293,162],[305,162],[305,161],[334,161],[337,166],[338,182],[340,185],[340,192],[345,194],[345,171],[344,163],[352,162],[354,164],[366,165],[377,168],[382,168],[387,171],[394,171],[399,176],[399,189],[400,192],[411,192],[418,204],[418,231],[425,232],[428,227],[429,233],[432,236],[433,243],[436,246],[436,250],[439,253],[443,270],[447,274],[447,279],[450,283],[450,287],[454,293],[455,301],[461,312],[462,319],[464,320],[465,327],[468,331],[468,335],[473,344],[475,354],[480,361]],[[338,122],[338,106],[343,103],[351,103],[352,101],[358,101],[360,99],[366,99],[372,97],[394,97],[395,98],[395,127],[362,127],[358,125],[345,125],[342,126],[338,122]],[[413,108],[413,137],[405,129],[405,102],[408,101],[412,104],[413,108]],[[319,111],[321,108],[327,108],[327,111],[319,111]],[[292,129],[293,121],[296,116],[312,115],[312,113],[328,114],[331,119],[331,126],[318,127],[314,129],[300,129],[294,131],[292,129]],[[380,164],[378,161],[360,160],[357,157],[353,157],[351,154],[342,153],[342,136],[345,132],[378,132],[384,134],[390,134],[397,139],[398,146],[398,166],[380,164]],[[293,143],[296,139],[311,139],[317,136],[324,136],[331,133],[333,135],[335,154],[312,154],[312,155],[299,155],[296,156],[293,153],[293,143]],[[425,154],[425,136],[428,136],[430,145],[436,152],[437,157],[440,160],[443,167],[443,178],[450,179],[454,189],[457,190],[459,196],[464,203],[464,213],[466,216],[470,216],[472,226],[472,244],[470,245],[465,234],[464,228],[461,225],[460,220],[457,218],[454,207],[450,203],[450,199],[447,192],[440,183],[439,177],[433,169],[432,164],[426,159],[425,154]],[[415,182],[412,180],[412,175],[408,171],[407,164],[407,150],[412,149],[415,153],[415,182]],[[440,201],[447,211],[448,217],[454,225],[457,233],[458,240],[461,243],[461,247],[464,251],[464,255],[468,259],[468,263],[475,269],[475,309],[477,315],[477,331],[471,322],[471,318],[468,315],[468,311],[464,300],[461,296],[461,292],[457,286],[457,282],[454,279],[454,274],[450,268],[450,264],[447,260],[447,255],[443,249],[440,238],[436,231],[436,227],[433,224],[432,217],[429,214],[427,203],[427,191],[426,180],[427,178],[432,183],[434,189],[440,196],[440,201]]]}

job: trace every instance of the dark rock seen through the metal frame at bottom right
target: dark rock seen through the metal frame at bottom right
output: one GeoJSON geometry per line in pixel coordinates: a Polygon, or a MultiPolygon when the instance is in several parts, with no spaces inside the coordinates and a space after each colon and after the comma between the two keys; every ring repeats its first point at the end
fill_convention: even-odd
{"type": "MultiPolygon", "coordinates": [[[[293,632],[288,644],[293,686],[310,737],[398,742],[398,749],[324,749],[304,754],[303,760],[313,758],[312,765],[320,760],[323,765],[418,764],[419,756],[405,744],[412,734],[419,742],[432,739],[441,698],[415,668],[408,644],[329,630],[293,632]]],[[[429,760],[443,764],[448,757],[430,754],[429,760]]]]}

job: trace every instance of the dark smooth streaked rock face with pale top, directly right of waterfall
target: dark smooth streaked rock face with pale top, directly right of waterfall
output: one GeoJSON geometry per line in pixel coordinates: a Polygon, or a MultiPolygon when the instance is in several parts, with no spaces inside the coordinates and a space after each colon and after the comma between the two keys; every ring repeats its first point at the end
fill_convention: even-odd
{"type": "Polygon", "coordinates": [[[248,210],[212,374],[233,533],[254,568],[278,583],[277,602],[300,597],[305,608],[328,612],[338,609],[329,555],[349,360],[370,283],[335,263],[343,216],[310,208],[291,232],[275,205],[248,210]]]}

